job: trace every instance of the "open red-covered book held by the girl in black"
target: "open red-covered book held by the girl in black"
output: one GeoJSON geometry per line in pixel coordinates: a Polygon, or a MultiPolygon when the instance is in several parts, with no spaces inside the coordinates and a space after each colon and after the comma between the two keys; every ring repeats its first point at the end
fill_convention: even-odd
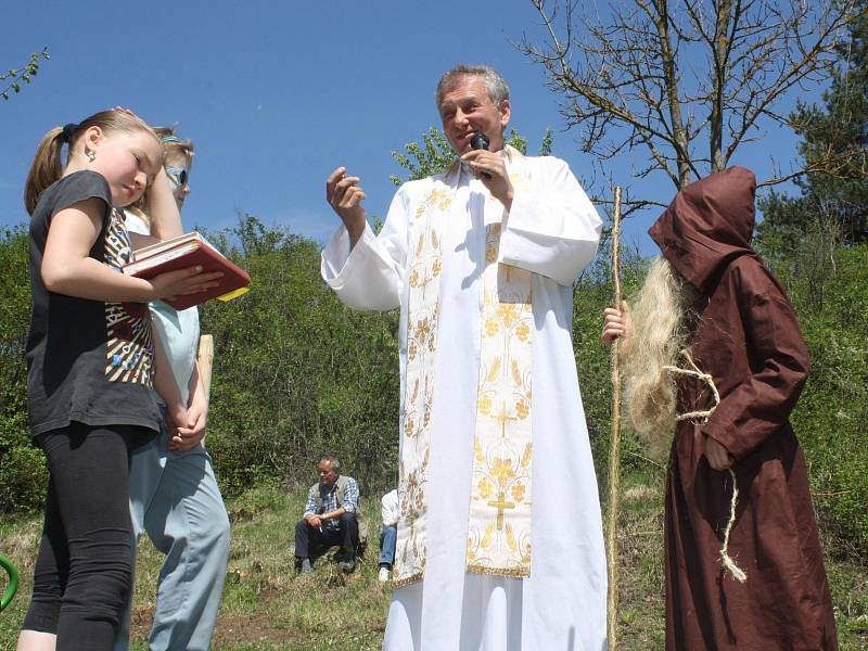
{"type": "Polygon", "coordinates": [[[195,231],[135,251],[132,261],[124,265],[123,271],[128,276],[148,279],[194,265],[201,265],[203,272],[222,271],[224,275],[217,279],[215,288],[166,301],[175,309],[187,309],[209,298],[230,301],[246,292],[251,283],[251,277],[244,269],[233,265],[195,231]]]}

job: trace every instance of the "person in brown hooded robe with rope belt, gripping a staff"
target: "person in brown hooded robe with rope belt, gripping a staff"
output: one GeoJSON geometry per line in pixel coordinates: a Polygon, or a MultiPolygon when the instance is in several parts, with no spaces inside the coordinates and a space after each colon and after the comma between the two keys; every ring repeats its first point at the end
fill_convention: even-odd
{"type": "MultiPolygon", "coordinates": [[[[753,173],[743,167],[714,174],[678,192],[649,231],[671,281],[688,297],[668,329],[669,343],[677,342],[667,345],[671,363],[694,368],[692,359],[719,394],[717,404],[707,381],[669,369],[656,374],[658,386],[646,385],[641,395],[634,391],[641,406],[629,407],[641,431],[637,421],[654,420],[668,384],[669,418],[658,425],[672,427],[676,414],[710,412],[678,420],[672,443],[665,499],[668,650],[838,649],[805,460],[788,422],[809,360],[792,305],[750,245],[755,190],[753,173]],[[728,553],[746,574],[744,583],[722,564],[732,498],[729,469],[738,501],[728,553]]],[[[629,374],[648,366],[640,358],[650,346],[640,331],[661,323],[646,319],[640,308],[660,306],[648,297],[642,307],[640,299],[633,318],[626,304],[624,311],[605,310],[603,341],[624,337],[628,398],[629,374]],[[630,345],[631,339],[639,345],[630,345]]]]}

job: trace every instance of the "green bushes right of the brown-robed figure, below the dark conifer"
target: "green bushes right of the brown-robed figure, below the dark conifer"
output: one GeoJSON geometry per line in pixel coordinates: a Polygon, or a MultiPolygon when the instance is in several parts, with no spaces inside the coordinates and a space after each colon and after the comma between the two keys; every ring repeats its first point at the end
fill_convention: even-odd
{"type": "Polygon", "coordinates": [[[812,357],[792,423],[817,513],[837,549],[868,556],[868,244],[837,250],[822,275],[782,279],[812,357]]]}

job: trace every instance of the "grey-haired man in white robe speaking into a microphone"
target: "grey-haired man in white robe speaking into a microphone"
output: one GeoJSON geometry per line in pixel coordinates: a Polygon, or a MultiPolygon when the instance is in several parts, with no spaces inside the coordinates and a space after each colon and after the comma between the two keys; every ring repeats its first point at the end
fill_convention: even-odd
{"type": "Polygon", "coordinates": [[[327,181],[343,226],[324,280],[349,307],[401,310],[383,649],[601,651],[605,558],[571,336],[573,281],[601,221],[563,161],[505,148],[497,72],[452,68],[437,107],[460,161],[401,186],[379,235],[359,178],[327,181]],[[472,149],[476,132],[488,151],[472,149]]]}

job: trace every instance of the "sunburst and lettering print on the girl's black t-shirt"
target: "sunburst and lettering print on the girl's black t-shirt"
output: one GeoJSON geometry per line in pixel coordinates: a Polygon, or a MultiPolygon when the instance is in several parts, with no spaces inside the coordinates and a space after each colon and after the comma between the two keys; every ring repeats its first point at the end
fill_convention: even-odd
{"type": "MultiPolygon", "coordinates": [[[[122,273],[130,261],[132,248],[120,213],[113,208],[105,231],[105,264],[122,273]]],[[[153,342],[151,312],[146,303],[106,303],[107,360],[105,374],[110,382],[153,385],[153,342]]]]}

